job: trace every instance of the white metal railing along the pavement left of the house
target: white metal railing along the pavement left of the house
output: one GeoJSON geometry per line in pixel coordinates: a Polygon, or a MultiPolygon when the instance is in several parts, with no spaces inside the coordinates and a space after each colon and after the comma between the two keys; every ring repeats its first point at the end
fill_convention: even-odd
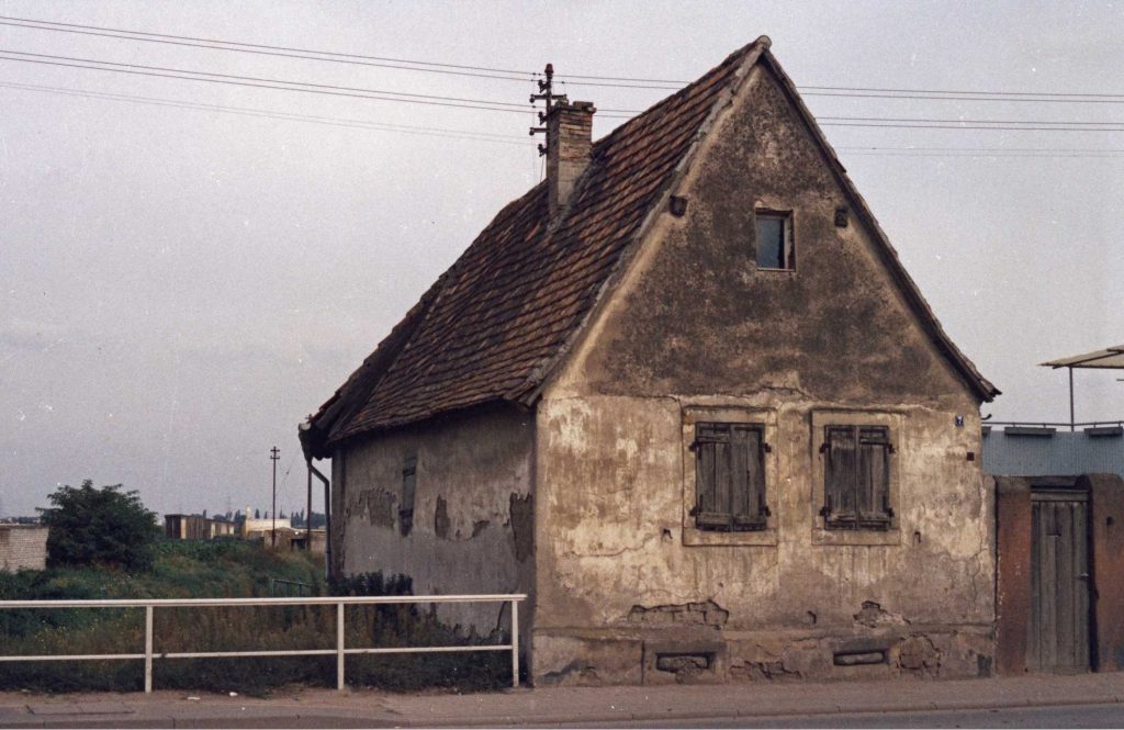
{"type": "Polygon", "coordinates": [[[153,598],[107,601],[0,601],[0,610],[9,609],[144,609],[144,652],[82,655],[0,656],[0,661],[83,661],[102,659],[144,659],[144,691],[152,692],[153,659],[203,659],[219,657],[298,657],[336,656],[336,688],[344,688],[344,657],[348,654],[425,654],[451,651],[510,651],[511,686],[519,686],[519,602],[523,593],[463,596],[309,596],[301,598],[153,598]],[[384,605],[397,603],[510,603],[511,641],[500,645],[463,647],[353,647],[344,642],[344,607],[348,605],[384,605]],[[193,609],[200,606],[336,606],[336,646],[334,649],[296,649],[292,651],[153,651],[153,613],[156,609],[193,609]]]}

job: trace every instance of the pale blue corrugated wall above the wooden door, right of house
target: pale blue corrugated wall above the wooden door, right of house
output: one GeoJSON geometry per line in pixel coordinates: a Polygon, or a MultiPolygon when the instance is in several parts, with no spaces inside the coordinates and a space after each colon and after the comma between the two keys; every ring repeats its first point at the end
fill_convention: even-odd
{"type": "Polygon", "coordinates": [[[984,434],[982,460],[985,474],[1124,475],[1124,436],[1090,436],[1081,431],[1027,436],[994,429],[984,434]]]}

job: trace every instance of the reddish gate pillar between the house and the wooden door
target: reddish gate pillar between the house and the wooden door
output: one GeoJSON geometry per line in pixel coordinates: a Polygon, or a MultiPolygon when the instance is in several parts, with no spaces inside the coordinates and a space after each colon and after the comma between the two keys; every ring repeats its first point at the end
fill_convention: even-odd
{"type": "Polygon", "coordinates": [[[1031,612],[1031,481],[996,477],[996,673],[1026,672],[1031,612]]]}

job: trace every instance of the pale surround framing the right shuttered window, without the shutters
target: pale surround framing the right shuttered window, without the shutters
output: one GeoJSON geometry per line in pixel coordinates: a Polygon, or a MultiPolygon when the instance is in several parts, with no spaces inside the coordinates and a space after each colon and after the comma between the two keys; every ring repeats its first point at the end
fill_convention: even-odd
{"type": "MultiPolygon", "coordinates": [[[[812,524],[814,544],[900,544],[901,543],[901,496],[900,472],[901,456],[908,453],[905,414],[895,409],[814,409],[812,412],[812,524]],[[832,523],[827,506],[827,459],[828,429],[853,427],[859,430],[885,429],[894,452],[889,453],[886,465],[887,472],[887,519],[885,521],[869,520],[863,524],[859,519],[855,524],[842,526],[832,523]]],[[[856,444],[858,445],[858,444],[856,444]]],[[[858,458],[855,463],[858,465],[858,458]]]]}

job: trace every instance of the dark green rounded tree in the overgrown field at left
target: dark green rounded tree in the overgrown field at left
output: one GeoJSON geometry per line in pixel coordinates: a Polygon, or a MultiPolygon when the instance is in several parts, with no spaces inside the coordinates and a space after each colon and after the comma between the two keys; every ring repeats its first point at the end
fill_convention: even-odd
{"type": "Polygon", "coordinates": [[[81,487],[58,487],[54,505],[39,508],[47,533],[47,564],[62,566],[112,566],[142,570],[152,565],[152,544],[160,537],[156,513],[149,512],[136,490],[121,485],[96,488],[85,479],[81,487]]]}

